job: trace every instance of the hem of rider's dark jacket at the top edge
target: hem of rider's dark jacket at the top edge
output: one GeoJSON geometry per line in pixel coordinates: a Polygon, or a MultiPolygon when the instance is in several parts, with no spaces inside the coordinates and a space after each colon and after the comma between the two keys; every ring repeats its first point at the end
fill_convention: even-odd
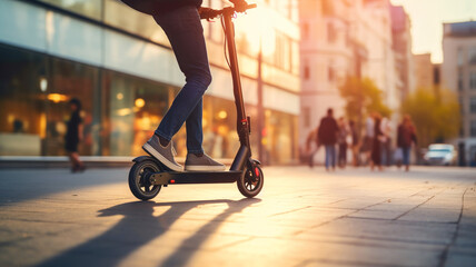
{"type": "Polygon", "coordinates": [[[185,6],[200,8],[202,0],[121,0],[139,12],[156,16],[185,6]]]}

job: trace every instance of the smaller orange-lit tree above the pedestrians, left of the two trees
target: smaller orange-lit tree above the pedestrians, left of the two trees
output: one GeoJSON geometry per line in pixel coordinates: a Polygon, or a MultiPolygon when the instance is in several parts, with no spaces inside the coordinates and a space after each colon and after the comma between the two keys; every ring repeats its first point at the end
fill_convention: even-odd
{"type": "Polygon", "coordinates": [[[346,100],[346,116],[357,121],[360,129],[363,118],[371,112],[389,117],[391,110],[383,102],[383,91],[369,78],[348,77],[339,87],[340,96],[346,100]]]}

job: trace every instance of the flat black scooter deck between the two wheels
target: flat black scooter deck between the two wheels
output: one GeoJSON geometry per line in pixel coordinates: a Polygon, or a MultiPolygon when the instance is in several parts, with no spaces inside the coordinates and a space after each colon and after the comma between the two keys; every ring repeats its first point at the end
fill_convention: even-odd
{"type": "Polygon", "coordinates": [[[226,184],[235,182],[241,177],[242,171],[165,171],[150,176],[150,182],[157,186],[180,184],[226,184]]]}

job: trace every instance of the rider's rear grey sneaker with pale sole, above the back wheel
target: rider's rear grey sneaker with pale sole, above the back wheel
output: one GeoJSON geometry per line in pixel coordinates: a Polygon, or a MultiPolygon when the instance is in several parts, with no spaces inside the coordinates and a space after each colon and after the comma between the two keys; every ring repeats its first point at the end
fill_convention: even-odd
{"type": "Polygon", "coordinates": [[[162,162],[169,169],[175,171],[182,171],[184,168],[181,165],[177,164],[173,159],[173,147],[172,141],[169,141],[167,146],[160,145],[159,137],[153,135],[146,144],[143,144],[142,149],[150,156],[155,157],[157,160],[162,162]]]}

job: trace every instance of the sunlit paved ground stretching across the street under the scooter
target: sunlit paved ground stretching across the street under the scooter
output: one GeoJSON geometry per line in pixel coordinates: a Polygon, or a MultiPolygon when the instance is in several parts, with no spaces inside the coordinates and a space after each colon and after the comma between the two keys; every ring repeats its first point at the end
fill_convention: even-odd
{"type": "Polygon", "coordinates": [[[266,167],[236,185],[169,186],[129,169],[0,170],[0,266],[476,266],[476,171],[266,167]]]}

